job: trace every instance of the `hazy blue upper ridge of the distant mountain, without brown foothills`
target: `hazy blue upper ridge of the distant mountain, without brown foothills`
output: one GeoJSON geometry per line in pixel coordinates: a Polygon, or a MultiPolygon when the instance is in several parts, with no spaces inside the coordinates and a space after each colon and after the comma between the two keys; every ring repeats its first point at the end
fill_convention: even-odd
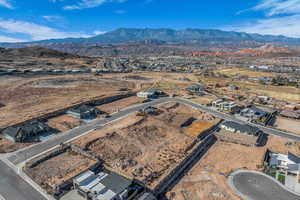
{"type": "Polygon", "coordinates": [[[195,29],[173,30],[168,28],[118,28],[90,38],[66,38],[36,41],[31,43],[97,43],[116,44],[141,40],[160,40],[165,42],[185,43],[187,41],[208,42],[240,42],[255,41],[260,43],[300,44],[298,38],[284,36],[248,34],[234,31],[223,31],[218,29],[195,29]]]}

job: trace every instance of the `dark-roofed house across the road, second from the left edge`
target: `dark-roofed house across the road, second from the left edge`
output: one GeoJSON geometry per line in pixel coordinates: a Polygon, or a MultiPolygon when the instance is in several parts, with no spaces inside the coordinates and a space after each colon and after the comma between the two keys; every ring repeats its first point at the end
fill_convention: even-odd
{"type": "Polygon", "coordinates": [[[101,113],[103,112],[99,109],[88,105],[80,105],[67,111],[67,114],[78,119],[93,119],[101,113]]]}

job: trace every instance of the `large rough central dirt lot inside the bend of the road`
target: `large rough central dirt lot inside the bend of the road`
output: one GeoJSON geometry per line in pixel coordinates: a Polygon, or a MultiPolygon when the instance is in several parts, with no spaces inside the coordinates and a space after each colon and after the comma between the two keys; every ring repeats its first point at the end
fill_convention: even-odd
{"type": "Polygon", "coordinates": [[[132,114],[74,143],[113,170],[154,188],[191,151],[195,137],[185,134],[181,124],[190,117],[203,118],[201,112],[177,103],[159,109],[158,115],[132,114]]]}

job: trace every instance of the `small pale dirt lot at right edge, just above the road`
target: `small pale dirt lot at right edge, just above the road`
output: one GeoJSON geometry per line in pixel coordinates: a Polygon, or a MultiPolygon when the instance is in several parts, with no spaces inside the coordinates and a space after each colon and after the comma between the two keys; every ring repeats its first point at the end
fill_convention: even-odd
{"type": "Polygon", "coordinates": [[[276,117],[275,126],[281,130],[289,131],[300,135],[300,120],[276,117]]]}

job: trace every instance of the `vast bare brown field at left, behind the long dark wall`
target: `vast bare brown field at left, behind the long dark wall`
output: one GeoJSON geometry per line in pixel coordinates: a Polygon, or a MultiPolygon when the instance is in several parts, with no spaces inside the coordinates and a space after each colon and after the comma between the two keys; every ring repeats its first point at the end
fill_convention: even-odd
{"type": "Polygon", "coordinates": [[[119,94],[134,83],[93,75],[1,77],[0,127],[7,127],[91,99],[119,94]],[[13,84],[12,84],[13,83],[13,84]]]}

